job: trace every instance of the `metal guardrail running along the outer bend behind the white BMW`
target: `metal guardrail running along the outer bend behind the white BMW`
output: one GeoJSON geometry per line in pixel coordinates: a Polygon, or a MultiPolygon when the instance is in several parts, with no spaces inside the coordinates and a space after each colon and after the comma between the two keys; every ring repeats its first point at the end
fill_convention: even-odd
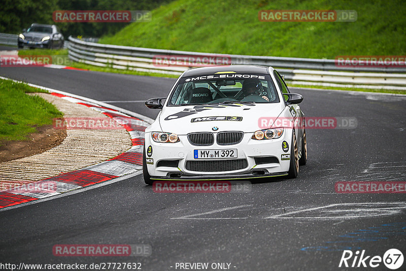
{"type": "Polygon", "coordinates": [[[345,67],[334,59],[226,55],[98,44],[69,37],[69,58],[113,69],[180,75],[191,66],[161,65],[154,57],[227,57],[233,64],[273,66],[287,81],[302,85],[350,86],[406,90],[406,67],[345,67]]]}

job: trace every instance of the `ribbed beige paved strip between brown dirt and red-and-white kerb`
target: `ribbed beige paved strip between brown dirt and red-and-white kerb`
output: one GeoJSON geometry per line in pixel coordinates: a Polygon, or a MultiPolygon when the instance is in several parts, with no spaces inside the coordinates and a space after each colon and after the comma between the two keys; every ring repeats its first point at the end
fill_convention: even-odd
{"type": "MultiPolygon", "coordinates": [[[[61,111],[64,118],[108,118],[86,106],[48,93],[36,93],[61,111]]],[[[43,153],[0,163],[0,190],[29,184],[61,173],[79,170],[113,158],[131,147],[123,127],[67,129],[63,142],[43,153]]]]}

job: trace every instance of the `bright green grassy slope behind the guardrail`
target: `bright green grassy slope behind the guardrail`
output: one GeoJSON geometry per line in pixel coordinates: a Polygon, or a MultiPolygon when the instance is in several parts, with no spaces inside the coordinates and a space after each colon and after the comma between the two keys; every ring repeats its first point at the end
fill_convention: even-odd
{"type": "Polygon", "coordinates": [[[404,55],[401,0],[176,0],[100,43],[193,52],[334,59],[404,55]],[[355,10],[355,22],[263,22],[261,10],[355,10]]]}

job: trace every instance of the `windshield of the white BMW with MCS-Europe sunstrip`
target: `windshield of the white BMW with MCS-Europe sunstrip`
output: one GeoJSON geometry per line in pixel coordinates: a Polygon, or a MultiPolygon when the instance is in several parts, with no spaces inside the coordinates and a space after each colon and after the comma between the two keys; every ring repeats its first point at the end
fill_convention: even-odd
{"type": "Polygon", "coordinates": [[[184,77],[168,106],[228,103],[279,103],[269,75],[223,74],[184,77]]]}

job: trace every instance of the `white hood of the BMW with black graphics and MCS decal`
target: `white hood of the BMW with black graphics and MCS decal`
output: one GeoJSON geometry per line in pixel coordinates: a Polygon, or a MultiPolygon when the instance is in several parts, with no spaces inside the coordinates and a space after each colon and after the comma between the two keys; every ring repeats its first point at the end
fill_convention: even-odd
{"type": "Polygon", "coordinates": [[[162,131],[180,135],[202,131],[254,132],[260,129],[259,118],[278,117],[284,108],[282,103],[172,106],[162,109],[159,123],[162,131]]]}

